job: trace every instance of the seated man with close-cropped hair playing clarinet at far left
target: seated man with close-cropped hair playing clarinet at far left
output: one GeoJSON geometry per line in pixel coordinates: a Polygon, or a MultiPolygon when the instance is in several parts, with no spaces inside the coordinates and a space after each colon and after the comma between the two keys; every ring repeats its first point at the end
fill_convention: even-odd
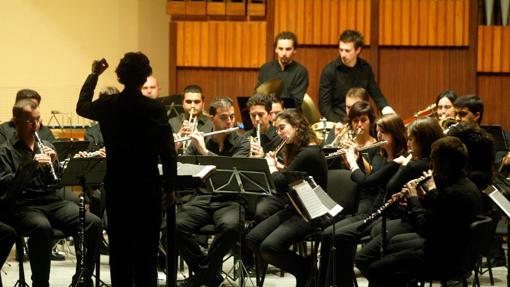
{"type": "MultiPolygon", "coordinates": [[[[79,208],[74,202],[63,200],[52,186],[50,165],[58,172],[58,159],[48,141],[40,148],[34,137],[39,130],[40,112],[31,100],[20,100],[13,107],[16,136],[0,147],[0,190],[13,190],[9,205],[9,219],[18,233],[28,236],[28,250],[32,269],[32,286],[49,286],[50,253],[53,241],[52,228],[65,234],[78,235],[79,208]],[[25,170],[27,182],[19,183],[17,173],[25,170]]],[[[93,286],[91,275],[99,251],[101,221],[97,216],[85,215],[85,266],[86,286],[93,286]]],[[[76,242],[76,241],[75,241],[76,242]]],[[[78,279],[73,276],[73,282],[78,279]]]]}

